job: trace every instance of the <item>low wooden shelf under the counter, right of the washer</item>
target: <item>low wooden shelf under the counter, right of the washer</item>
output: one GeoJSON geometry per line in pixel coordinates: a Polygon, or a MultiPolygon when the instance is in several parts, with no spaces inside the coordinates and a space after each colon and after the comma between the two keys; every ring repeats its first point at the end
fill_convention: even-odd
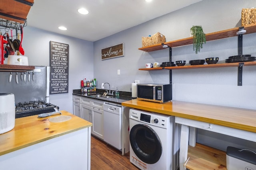
{"type": "Polygon", "coordinates": [[[199,143],[188,146],[188,158],[189,170],[227,170],[226,152],[199,143]]]}

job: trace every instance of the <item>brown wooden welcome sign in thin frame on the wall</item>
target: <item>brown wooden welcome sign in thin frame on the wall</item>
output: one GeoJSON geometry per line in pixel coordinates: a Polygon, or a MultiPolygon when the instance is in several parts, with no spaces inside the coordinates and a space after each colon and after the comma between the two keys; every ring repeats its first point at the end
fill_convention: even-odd
{"type": "Polygon", "coordinates": [[[101,59],[124,56],[124,43],[101,49],[101,59]]]}

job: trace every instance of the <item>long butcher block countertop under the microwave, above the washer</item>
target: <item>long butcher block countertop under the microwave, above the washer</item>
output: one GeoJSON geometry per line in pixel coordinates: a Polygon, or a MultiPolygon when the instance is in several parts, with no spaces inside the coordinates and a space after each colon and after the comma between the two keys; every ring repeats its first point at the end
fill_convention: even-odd
{"type": "Polygon", "coordinates": [[[173,115],[256,133],[256,110],[236,107],[171,101],[163,104],[144,100],[129,100],[122,106],[166,115],[173,115]]]}

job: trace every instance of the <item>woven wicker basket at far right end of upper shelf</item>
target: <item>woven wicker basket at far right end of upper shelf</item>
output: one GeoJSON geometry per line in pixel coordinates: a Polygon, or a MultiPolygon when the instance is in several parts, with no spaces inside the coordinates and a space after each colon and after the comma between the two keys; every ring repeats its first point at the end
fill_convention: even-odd
{"type": "Polygon", "coordinates": [[[242,8],[242,26],[256,23],[256,8],[242,8]]]}

